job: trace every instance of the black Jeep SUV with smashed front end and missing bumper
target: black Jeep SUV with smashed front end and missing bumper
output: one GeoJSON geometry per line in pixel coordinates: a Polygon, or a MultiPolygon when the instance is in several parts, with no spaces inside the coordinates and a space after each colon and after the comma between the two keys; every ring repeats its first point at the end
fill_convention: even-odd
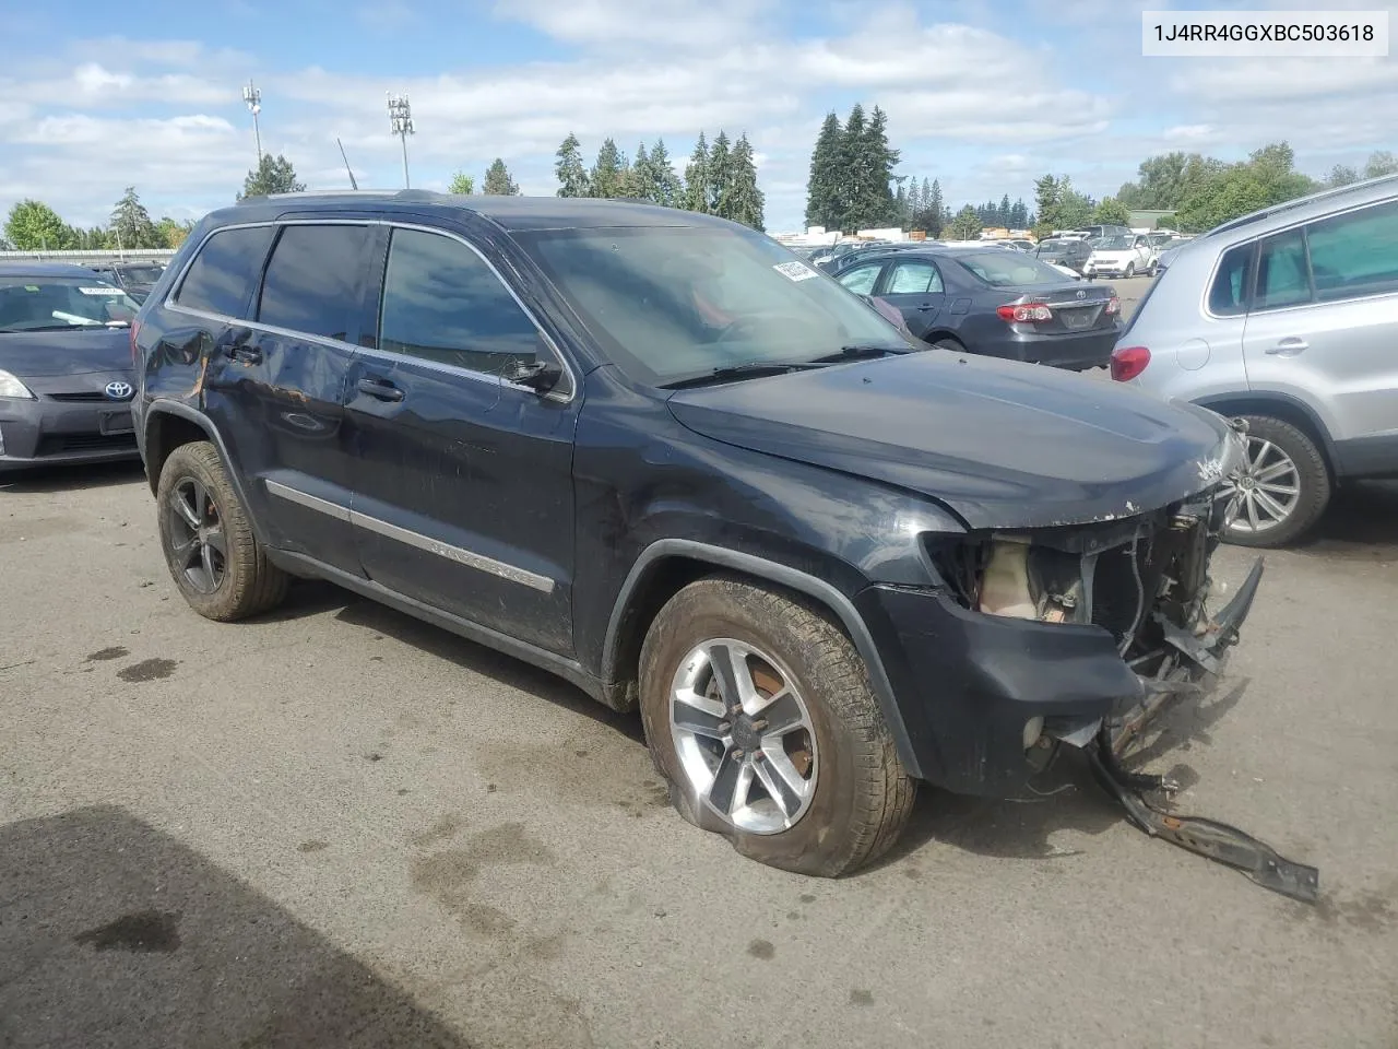
{"type": "Polygon", "coordinates": [[[196,611],[319,576],[639,706],[685,818],[809,874],[886,850],[918,780],[1121,754],[1257,587],[1205,610],[1220,417],[914,345],[706,215],[245,200],[133,352],[196,611]]]}

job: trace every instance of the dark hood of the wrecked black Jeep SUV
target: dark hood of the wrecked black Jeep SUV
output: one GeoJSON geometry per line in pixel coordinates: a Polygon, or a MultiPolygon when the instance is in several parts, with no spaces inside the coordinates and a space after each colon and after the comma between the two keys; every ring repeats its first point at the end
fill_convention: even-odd
{"type": "Polygon", "coordinates": [[[714,441],[937,499],[972,529],[1085,524],[1222,480],[1227,424],[1116,383],[944,350],[679,390],[714,441]]]}

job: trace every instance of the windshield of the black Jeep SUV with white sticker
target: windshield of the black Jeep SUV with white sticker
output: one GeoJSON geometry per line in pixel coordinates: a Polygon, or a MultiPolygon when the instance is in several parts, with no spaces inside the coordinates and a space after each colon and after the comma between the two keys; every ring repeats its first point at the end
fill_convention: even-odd
{"type": "Polygon", "coordinates": [[[549,229],[520,243],[633,380],[910,348],[872,306],[781,245],[724,227],[549,229]]]}

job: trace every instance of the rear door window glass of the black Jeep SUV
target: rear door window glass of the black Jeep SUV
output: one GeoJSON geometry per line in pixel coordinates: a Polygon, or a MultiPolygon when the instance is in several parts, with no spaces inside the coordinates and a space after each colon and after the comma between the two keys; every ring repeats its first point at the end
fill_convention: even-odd
{"type": "Polygon", "coordinates": [[[369,227],[288,225],[263,277],[257,320],[345,341],[369,227]]]}

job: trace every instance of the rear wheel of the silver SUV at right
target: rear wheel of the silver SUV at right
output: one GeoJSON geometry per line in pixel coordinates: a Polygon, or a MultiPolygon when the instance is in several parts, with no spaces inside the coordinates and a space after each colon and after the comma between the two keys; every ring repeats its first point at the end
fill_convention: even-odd
{"type": "Polygon", "coordinates": [[[1248,464],[1234,487],[1223,538],[1240,547],[1289,545],[1310,531],[1329,505],[1329,467],[1316,442],[1290,422],[1271,415],[1243,418],[1248,464]],[[1286,512],[1276,513],[1278,506],[1286,512]]]}

